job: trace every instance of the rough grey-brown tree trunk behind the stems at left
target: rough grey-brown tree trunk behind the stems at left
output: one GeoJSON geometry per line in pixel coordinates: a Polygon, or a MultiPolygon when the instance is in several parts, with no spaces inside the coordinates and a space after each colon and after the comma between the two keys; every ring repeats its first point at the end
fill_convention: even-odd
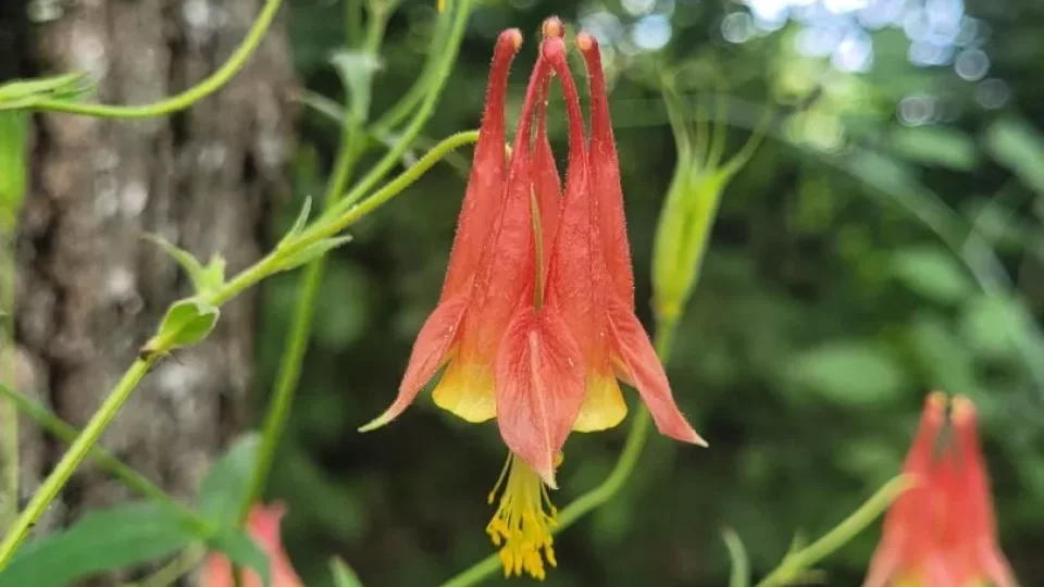
{"type": "MultiPolygon", "coordinates": [[[[220,66],[262,0],[2,3],[0,47],[15,52],[0,58],[0,74],[84,71],[99,79],[99,101],[137,104],[176,93],[220,66]]],[[[36,117],[17,236],[23,390],[83,426],[167,304],[189,294],[176,264],[142,234],[158,234],[204,262],[220,251],[229,274],[257,259],[265,210],[285,186],[290,84],[288,48],[276,25],[229,86],[187,112],[122,122],[36,117]]],[[[103,437],[175,496],[194,492],[243,424],[254,305],[248,294],[225,307],[210,339],[163,361],[103,437]]],[[[24,499],[64,446],[30,423],[22,429],[24,499]]],[[[87,466],[38,532],[128,497],[87,466]]]]}

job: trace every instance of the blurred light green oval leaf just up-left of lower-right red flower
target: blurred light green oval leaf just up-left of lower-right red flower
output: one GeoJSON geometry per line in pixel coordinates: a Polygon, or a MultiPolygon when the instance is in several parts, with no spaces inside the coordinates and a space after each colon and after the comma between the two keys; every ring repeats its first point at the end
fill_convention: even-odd
{"type": "Polygon", "coordinates": [[[886,352],[870,342],[838,341],[806,351],[786,367],[793,385],[853,407],[895,400],[906,374],[886,352]]]}

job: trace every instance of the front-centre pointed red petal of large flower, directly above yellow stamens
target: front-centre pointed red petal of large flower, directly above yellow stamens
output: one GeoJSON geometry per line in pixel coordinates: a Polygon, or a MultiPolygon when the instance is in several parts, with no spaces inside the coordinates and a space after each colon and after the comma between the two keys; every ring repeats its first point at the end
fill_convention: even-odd
{"type": "Polygon", "coordinates": [[[584,400],[580,348],[554,308],[522,307],[497,353],[497,423],[505,444],[555,487],[555,460],[584,400]]]}

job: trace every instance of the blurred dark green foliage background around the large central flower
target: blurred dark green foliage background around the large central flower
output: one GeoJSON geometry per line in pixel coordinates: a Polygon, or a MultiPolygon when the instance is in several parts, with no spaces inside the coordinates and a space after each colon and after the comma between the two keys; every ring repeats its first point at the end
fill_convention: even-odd
{"type": "MultiPolygon", "coordinates": [[[[409,0],[391,18],[377,112],[421,71],[434,4],[409,0]]],[[[330,57],[344,49],[344,7],[289,8],[299,76],[341,100],[330,57]]],[[[654,230],[675,162],[660,75],[675,72],[689,104],[726,97],[726,157],[766,109],[774,115],[724,192],[668,367],[711,448],[651,439],[621,497],[560,536],[561,567],[547,584],[724,585],[725,527],[762,575],[795,534],[821,534],[896,474],[931,388],[978,403],[1002,545],[1024,584],[1039,584],[1044,4],[487,0],[426,140],[477,126],[494,39],[511,26],[527,39],[511,78],[509,112],[518,111],[539,24],[552,13],[608,48],[647,324],[654,230]]],[[[550,130],[561,164],[564,118],[552,117],[550,130]]],[[[298,201],[286,202],[273,241],[303,197],[321,192],[338,134],[302,109],[298,201]]],[[[467,425],[424,395],[393,425],[355,432],[393,399],[435,304],[469,158],[436,167],[331,259],[271,490],[289,504],[285,537],[308,585],[328,584],[335,553],[368,585],[413,586],[492,552],[485,499],[505,457],[495,426],[467,425]]],[[[294,275],[264,287],[259,410],[295,291],[294,275]]],[[[556,503],[598,483],[622,438],[623,428],[574,435],[556,503]]],[[[826,583],[857,585],[878,537],[874,526],[826,561],[826,583]]]]}

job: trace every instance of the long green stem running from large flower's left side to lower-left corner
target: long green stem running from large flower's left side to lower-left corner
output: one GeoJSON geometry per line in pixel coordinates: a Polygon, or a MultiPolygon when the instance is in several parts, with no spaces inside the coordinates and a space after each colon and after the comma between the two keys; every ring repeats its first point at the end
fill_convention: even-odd
{"type": "MultiPolygon", "coordinates": [[[[477,139],[477,130],[457,133],[456,135],[447,137],[418,160],[413,166],[406,170],[391,182],[388,182],[388,184],[375,191],[370,198],[366,198],[358,205],[351,207],[335,220],[321,222],[289,239],[283,247],[277,248],[264,259],[244,270],[216,291],[202,296],[201,301],[217,307],[235,298],[261,279],[281,271],[282,265],[294,254],[299,253],[310,245],[334,236],[390,201],[413,182],[418,180],[427,170],[432,168],[449,152],[464,145],[473,143],[477,139]]],[[[15,521],[11,530],[3,537],[3,541],[0,542],[0,571],[11,562],[11,558],[14,555],[18,546],[25,540],[29,529],[36,525],[37,520],[40,519],[48,505],[50,505],[62,487],[64,487],[65,483],[69,482],[69,478],[73,475],[76,467],[98,442],[101,434],[109,426],[109,423],[112,422],[112,419],[115,417],[116,412],[120,411],[120,408],[123,407],[127,398],[130,397],[130,394],[141,378],[145,377],[152,365],[172,348],[173,341],[178,334],[179,333],[171,333],[157,336],[150,342],[154,352],[139,357],[130,364],[130,367],[120,379],[120,383],[116,384],[95,415],[91,416],[90,422],[87,423],[84,430],[76,437],[76,440],[73,441],[69,451],[62,457],[62,460],[44,480],[42,485],[40,485],[40,488],[33,496],[25,511],[23,511],[15,521]]]]}

